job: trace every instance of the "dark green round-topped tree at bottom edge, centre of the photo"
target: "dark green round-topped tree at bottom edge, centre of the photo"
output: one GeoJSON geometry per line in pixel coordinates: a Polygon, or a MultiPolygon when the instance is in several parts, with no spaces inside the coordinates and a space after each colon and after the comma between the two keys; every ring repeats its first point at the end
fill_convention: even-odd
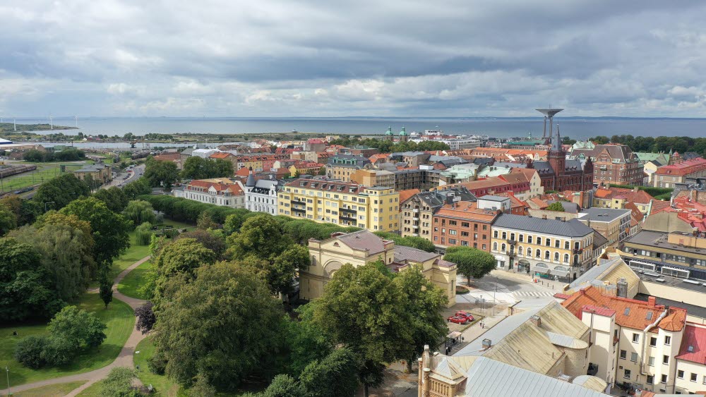
{"type": "Polygon", "coordinates": [[[299,376],[299,382],[306,396],[355,396],[359,385],[358,367],[359,359],[352,350],[336,349],[323,360],[307,365],[299,376]]]}

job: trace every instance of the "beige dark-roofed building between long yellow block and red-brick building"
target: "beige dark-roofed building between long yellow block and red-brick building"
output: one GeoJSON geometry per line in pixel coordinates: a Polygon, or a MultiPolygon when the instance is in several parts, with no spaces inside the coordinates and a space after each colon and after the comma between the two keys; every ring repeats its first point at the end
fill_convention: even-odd
{"type": "Polygon", "coordinates": [[[433,192],[420,192],[400,204],[400,233],[402,237],[433,238],[433,216],[448,200],[474,202],[476,197],[462,187],[433,192]]]}

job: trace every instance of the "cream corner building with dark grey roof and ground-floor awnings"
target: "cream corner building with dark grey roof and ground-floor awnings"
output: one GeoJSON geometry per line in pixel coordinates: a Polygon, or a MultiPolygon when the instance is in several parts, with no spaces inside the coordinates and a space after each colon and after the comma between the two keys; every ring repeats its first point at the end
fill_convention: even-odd
{"type": "Polygon", "coordinates": [[[594,230],[569,221],[501,214],[493,222],[491,254],[498,269],[573,280],[594,260],[594,230]]]}

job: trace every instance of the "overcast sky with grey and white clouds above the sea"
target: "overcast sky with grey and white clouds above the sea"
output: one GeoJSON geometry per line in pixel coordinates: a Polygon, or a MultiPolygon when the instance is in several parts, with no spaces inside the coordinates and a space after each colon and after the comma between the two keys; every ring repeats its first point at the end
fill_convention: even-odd
{"type": "Polygon", "coordinates": [[[706,2],[541,3],[3,0],[0,115],[706,116],[706,2]]]}

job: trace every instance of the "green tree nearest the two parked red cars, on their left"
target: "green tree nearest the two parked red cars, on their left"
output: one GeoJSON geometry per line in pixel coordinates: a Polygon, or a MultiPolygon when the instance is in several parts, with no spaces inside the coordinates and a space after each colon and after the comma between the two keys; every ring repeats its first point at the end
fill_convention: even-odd
{"type": "Polygon", "coordinates": [[[412,362],[421,357],[424,345],[436,346],[448,332],[442,315],[448,296],[427,280],[419,267],[400,272],[393,283],[402,291],[402,311],[409,315],[407,326],[412,331],[414,343],[407,345],[407,372],[412,372],[412,362]]]}

